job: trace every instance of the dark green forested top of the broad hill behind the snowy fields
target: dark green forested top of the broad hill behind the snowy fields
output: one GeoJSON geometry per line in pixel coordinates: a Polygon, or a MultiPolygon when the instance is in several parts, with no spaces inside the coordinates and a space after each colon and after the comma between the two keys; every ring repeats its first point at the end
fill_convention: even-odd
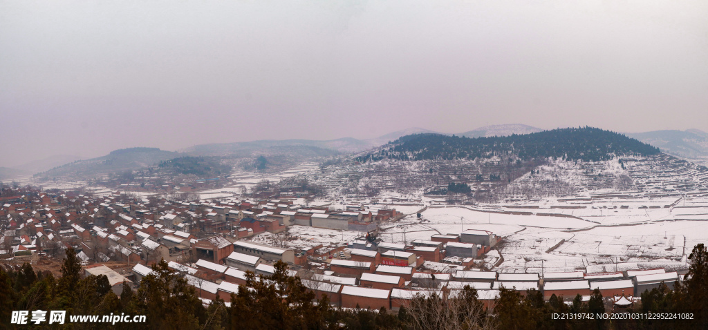
{"type": "Polygon", "coordinates": [[[359,162],[382,159],[455,160],[512,157],[521,160],[559,158],[600,161],[615,155],[656,155],[658,148],[624,134],[593,127],[553,129],[532,134],[466,138],[442,134],[403,136],[377,152],[356,158],[359,162]]]}

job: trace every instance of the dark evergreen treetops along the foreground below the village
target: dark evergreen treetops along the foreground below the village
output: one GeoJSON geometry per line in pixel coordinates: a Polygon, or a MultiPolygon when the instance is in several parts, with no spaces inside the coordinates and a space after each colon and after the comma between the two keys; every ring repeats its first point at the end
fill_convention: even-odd
{"type": "MultiPolygon", "coordinates": [[[[708,252],[698,244],[690,256],[685,281],[674,289],[661,285],[641,294],[641,305],[627,312],[692,313],[691,320],[617,321],[609,319],[554,319],[554,313],[604,313],[603,296],[595,290],[588,302],[577,295],[566,303],[553,295],[545,301],[538,290],[525,295],[501,288],[493,308],[484,307],[474,288],[466,286],[455,295],[417,295],[396,313],[362,308],[331,307],[329,298],[316,294],[287,276],[287,266],[275,264],[275,273],[256,278],[247,272],[246,285],[230,295],[227,303],[217,295],[208,304],[182,273],[162,260],[142,278],[137,291],[123,283],[115,295],[103,276],[81,276],[74,249],[67,249],[62,276],[34,271],[23,264],[18,271],[0,269],[0,327],[9,324],[13,310],[67,310],[71,314],[146,315],[145,329],[706,329],[708,309],[708,252]]],[[[68,319],[68,318],[67,318],[68,319]]],[[[35,329],[103,329],[103,324],[39,324],[35,329]]],[[[135,329],[135,324],[115,324],[115,329],[135,329]]]]}

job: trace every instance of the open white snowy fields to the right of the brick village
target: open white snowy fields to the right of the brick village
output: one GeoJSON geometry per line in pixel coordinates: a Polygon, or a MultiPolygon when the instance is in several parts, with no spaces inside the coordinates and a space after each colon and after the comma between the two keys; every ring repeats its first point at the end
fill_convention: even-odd
{"type": "Polygon", "coordinates": [[[405,237],[410,244],[413,240],[429,240],[430,235],[459,234],[468,229],[489,230],[502,237],[497,250],[484,260],[485,266],[491,267],[503,258],[496,267],[502,272],[622,269],[617,264],[634,269],[665,266],[680,270],[692,247],[708,242],[708,199],[428,207],[422,219],[411,215],[382,226],[379,237],[396,243],[404,242],[405,237]],[[525,214],[498,213],[501,211],[525,214]]]}

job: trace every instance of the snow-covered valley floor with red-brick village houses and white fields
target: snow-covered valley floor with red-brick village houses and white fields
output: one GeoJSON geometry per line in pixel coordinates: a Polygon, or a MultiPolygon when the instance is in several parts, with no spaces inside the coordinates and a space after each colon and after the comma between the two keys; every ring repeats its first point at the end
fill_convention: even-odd
{"type": "Polygon", "coordinates": [[[700,196],[688,204],[627,194],[470,207],[390,196],[338,204],[290,192],[170,201],[126,191],[52,191],[4,189],[3,267],[29,262],[58,272],[72,247],[87,275],[105,274],[120,293],[124,282],[139,287],[164,259],[205,302],[217,295],[229,302],[247,271],[270,275],[275,261],[284,261],[318,298],[376,310],[397,310],[418,294],[454,297],[467,285],[488,307],[501,287],[566,301],[588,300],[597,288],[610,309],[621,310],[644,290],[680,281],[686,250],[704,238],[675,226],[695,227],[708,213],[700,196]],[[663,228],[663,237],[600,233],[665,224],[674,227],[663,228]]]}

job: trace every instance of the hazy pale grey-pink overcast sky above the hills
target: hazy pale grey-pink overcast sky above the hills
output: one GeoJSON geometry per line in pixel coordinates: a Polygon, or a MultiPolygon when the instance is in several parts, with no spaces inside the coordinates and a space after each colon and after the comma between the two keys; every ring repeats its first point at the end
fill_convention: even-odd
{"type": "Polygon", "coordinates": [[[708,131],[708,1],[0,0],[0,166],[488,124],[708,131]]]}

